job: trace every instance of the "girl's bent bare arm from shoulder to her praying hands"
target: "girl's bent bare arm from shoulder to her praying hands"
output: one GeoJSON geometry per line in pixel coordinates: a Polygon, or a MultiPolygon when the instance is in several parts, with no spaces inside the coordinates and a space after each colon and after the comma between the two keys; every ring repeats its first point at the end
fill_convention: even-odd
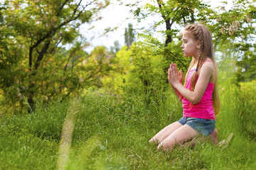
{"type": "Polygon", "coordinates": [[[211,76],[214,73],[214,66],[210,62],[206,62],[200,69],[199,79],[196,82],[196,86],[194,91],[186,89],[180,83],[180,75],[177,71],[176,64],[171,64],[169,69],[169,82],[172,86],[177,89],[179,94],[181,94],[184,98],[187,98],[193,105],[196,105],[201,101],[202,96],[204,95],[204,91],[206,91],[206,87],[208,86],[208,82],[211,76]]]}

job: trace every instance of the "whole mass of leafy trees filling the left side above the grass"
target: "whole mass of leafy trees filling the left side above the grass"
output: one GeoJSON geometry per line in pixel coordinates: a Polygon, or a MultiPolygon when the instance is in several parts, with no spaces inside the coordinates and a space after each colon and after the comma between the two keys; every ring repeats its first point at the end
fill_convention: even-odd
{"type": "Polygon", "coordinates": [[[5,98],[16,98],[6,102],[13,106],[17,102],[18,106],[27,102],[33,111],[35,101],[60,94],[63,91],[60,84],[68,89],[65,94],[72,93],[79,85],[79,75],[73,72],[67,75],[67,67],[70,65],[73,69],[78,59],[87,56],[82,54],[87,42],[79,35],[79,26],[91,22],[96,13],[106,6],[108,1],[100,0],[4,1],[4,7],[1,7],[1,28],[4,32],[0,35],[3,39],[0,88],[5,98]],[[65,45],[73,47],[62,53],[65,45]],[[67,66],[62,66],[65,73],[59,72],[60,65],[53,63],[60,64],[65,60],[67,66]]]}

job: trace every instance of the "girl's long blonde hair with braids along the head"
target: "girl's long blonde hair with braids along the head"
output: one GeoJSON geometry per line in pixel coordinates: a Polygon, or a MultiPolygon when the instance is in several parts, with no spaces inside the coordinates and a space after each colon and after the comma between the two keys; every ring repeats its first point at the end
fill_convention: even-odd
{"type": "MultiPolygon", "coordinates": [[[[196,65],[196,70],[200,69],[201,64],[206,60],[206,57],[209,57],[213,61],[213,64],[216,65],[214,51],[213,51],[213,40],[211,38],[211,33],[208,30],[208,28],[206,28],[206,26],[201,25],[201,24],[191,24],[191,25],[186,26],[184,31],[189,31],[189,33],[191,33],[191,35],[193,35],[194,40],[199,41],[200,55],[199,55],[199,61],[196,65]]],[[[192,60],[190,62],[188,70],[190,70],[194,64],[196,64],[196,60],[194,59],[194,57],[192,57],[192,60]]],[[[188,72],[185,77],[184,86],[186,86],[186,84],[187,84],[187,76],[188,76],[188,72]]],[[[194,91],[196,77],[197,77],[197,72],[194,72],[194,74],[191,78],[191,91],[194,91]]],[[[215,115],[218,115],[219,111],[221,110],[221,101],[218,96],[218,81],[217,80],[218,79],[217,79],[217,70],[216,70],[216,79],[215,79],[215,84],[214,84],[214,89],[213,89],[213,94],[212,94],[213,108],[214,108],[215,115]]]]}

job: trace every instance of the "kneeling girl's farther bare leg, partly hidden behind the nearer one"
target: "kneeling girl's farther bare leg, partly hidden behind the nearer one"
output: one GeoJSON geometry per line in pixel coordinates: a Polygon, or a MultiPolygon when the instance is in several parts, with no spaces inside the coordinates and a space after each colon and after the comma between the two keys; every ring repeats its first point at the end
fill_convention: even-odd
{"type": "Polygon", "coordinates": [[[172,134],[175,130],[182,127],[182,124],[179,122],[174,122],[170,125],[167,125],[167,127],[163,128],[160,132],[157,133],[152,139],[149,141],[150,143],[157,142],[157,145],[159,145],[162,141],[164,141],[169,135],[172,134]]]}

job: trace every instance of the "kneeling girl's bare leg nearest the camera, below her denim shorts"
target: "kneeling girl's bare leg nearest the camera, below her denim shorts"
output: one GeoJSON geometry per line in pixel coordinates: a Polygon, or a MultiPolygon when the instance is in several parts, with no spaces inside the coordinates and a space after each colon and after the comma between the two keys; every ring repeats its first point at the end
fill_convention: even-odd
{"type": "Polygon", "coordinates": [[[175,144],[188,142],[198,135],[200,135],[199,132],[191,128],[189,125],[182,125],[166,137],[165,140],[160,142],[157,149],[172,149],[175,144]]]}

